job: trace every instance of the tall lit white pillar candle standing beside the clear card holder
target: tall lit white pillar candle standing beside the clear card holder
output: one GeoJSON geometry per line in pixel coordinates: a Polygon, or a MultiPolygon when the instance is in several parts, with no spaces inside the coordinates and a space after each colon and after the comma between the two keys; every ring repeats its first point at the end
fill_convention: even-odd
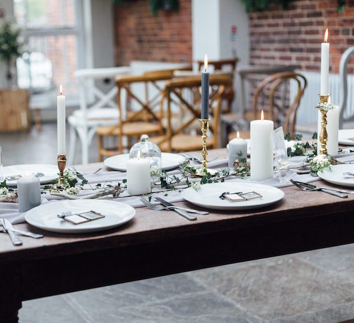
{"type": "Polygon", "coordinates": [[[273,178],[273,140],[271,132],[274,123],[264,120],[251,121],[251,180],[262,181],[273,178]]]}

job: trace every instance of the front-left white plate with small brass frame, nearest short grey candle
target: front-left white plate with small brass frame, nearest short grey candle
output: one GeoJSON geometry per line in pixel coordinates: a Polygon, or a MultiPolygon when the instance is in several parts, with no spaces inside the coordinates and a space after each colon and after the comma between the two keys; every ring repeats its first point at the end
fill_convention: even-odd
{"type": "Polygon", "coordinates": [[[131,220],[135,209],[121,202],[105,200],[62,200],[39,205],[26,212],[26,221],[34,227],[61,233],[85,233],[108,230],[131,220]],[[57,214],[71,211],[73,214],[96,211],[104,218],[81,224],[60,219],[57,214]]]}

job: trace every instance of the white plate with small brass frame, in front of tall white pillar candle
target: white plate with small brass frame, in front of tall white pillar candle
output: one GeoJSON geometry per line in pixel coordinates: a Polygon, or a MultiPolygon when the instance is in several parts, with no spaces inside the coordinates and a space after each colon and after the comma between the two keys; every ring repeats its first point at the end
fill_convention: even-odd
{"type": "Polygon", "coordinates": [[[253,183],[224,182],[204,184],[196,191],[189,187],[182,192],[182,196],[188,202],[214,210],[251,210],[275,203],[284,197],[284,192],[279,188],[253,183]],[[262,195],[261,199],[242,202],[230,202],[221,200],[219,196],[224,192],[257,192],[262,195]]]}

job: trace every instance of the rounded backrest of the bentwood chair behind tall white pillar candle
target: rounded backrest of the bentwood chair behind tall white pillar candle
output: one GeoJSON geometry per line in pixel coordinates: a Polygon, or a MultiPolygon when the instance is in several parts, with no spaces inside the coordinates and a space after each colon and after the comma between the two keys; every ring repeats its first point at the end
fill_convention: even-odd
{"type": "MultiPolygon", "coordinates": [[[[296,72],[281,72],[270,75],[266,77],[256,88],[253,94],[253,113],[254,119],[259,119],[260,117],[260,108],[258,108],[259,97],[262,93],[266,94],[266,97],[269,97],[269,107],[268,119],[275,122],[284,120],[283,129],[284,132],[290,133],[291,138],[294,136],[295,124],[296,124],[296,113],[300,105],[301,98],[303,97],[303,92],[307,86],[306,78],[296,72]],[[297,85],[297,93],[294,96],[292,102],[289,102],[289,107],[277,107],[275,103],[277,90],[281,84],[285,84],[289,80],[294,80],[297,85]],[[277,108],[277,111],[275,110],[277,108]],[[277,115],[276,115],[277,114],[277,115]],[[274,120],[276,119],[276,120],[274,120]]],[[[278,91],[279,92],[279,91],[278,91]]],[[[289,99],[290,100],[290,99],[289,99]]]]}

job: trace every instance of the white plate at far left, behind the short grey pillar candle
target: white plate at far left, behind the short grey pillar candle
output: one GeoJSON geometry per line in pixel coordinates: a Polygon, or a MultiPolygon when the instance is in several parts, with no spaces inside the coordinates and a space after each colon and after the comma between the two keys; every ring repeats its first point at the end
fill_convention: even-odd
{"type": "MultiPolygon", "coordinates": [[[[6,166],[2,168],[3,177],[12,176],[12,175],[21,175],[26,176],[34,175],[38,172],[44,174],[44,176],[39,177],[41,184],[50,184],[53,180],[58,177],[58,166],[55,165],[42,165],[42,164],[24,164],[24,165],[13,165],[6,166]]],[[[9,186],[16,186],[17,180],[6,181],[6,184],[9,186]]]]}

